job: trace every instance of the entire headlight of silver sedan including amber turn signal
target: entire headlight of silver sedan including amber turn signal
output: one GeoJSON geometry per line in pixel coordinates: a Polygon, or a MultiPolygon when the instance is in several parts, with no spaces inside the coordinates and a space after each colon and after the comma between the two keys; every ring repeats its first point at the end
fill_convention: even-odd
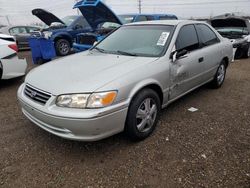
{"type": "Polygon", "coordinates": [[[67,108],[102,108],[111,105],[117,92],[101,92],[89,94],[60,95],[57,97],[56,105],[67,108]]]}

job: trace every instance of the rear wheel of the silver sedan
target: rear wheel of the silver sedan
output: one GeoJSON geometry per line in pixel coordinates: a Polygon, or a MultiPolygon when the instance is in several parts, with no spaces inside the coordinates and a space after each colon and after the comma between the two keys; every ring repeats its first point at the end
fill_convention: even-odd
{"type": "Polygon", "coordinates": [[[218,89],[223,85],[225,77],[226,77],[226,72],[227,72],[226,69],[227,69],[226,63],[223,60],[216,71],[214,79],[210,83],[212,88],[218,89]]]}

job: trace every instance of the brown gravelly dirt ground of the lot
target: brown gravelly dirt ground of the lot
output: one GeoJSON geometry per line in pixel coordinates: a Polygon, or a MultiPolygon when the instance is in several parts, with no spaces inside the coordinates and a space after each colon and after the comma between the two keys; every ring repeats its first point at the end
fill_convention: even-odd
{"type": "Polygon", "coordinates": [[[43,131],[21,113],[22,82],[0,84],[0,187],[250,187],[250,59],[231,64],[221,89],[202,87],[165,109],[140,143],[43,131]]]}

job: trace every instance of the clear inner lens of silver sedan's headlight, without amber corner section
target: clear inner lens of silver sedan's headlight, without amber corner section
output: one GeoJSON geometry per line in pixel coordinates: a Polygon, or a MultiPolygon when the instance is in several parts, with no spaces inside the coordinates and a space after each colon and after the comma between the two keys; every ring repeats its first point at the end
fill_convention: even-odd
{"type": "Polygon", "coordinates": [[[61,95],[57,97],[56,104],[60,107],[85,108],[88,97],[87,94],[61,95]]]}

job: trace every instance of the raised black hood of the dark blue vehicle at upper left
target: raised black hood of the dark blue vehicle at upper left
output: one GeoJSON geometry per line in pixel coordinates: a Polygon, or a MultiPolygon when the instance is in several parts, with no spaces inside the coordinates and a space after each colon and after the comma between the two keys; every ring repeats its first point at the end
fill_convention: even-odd
{"type": "Polygon", "coordinates": [[[48,26],[50,26],[53,22],[59,22],[59,23],[65,24],[63,23],[62,20],[60,20],[54,14],[43,9],[34,9],[32,10],[32,14],[38,17],[42,22],[44,22],[48,26]]]}

